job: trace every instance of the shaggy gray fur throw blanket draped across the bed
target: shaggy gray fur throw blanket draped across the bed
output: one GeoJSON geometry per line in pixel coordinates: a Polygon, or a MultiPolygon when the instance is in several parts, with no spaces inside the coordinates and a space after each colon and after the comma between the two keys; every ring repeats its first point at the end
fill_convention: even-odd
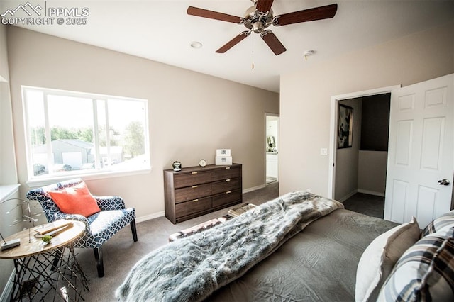
{"type": "Polygon", "coordinates": [[[285,194],[140,259],[116,290],[119,301],[201,301],[243,276],[312,221],[343,208],[305,191],[285,194]]]}

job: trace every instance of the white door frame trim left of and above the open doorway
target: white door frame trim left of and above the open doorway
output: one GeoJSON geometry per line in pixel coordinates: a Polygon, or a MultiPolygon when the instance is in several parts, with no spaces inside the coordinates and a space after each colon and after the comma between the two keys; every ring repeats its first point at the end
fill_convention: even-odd
{"type": "Polygon", "coordinates": [[[375,94],[388,94],[393,89],[401,88],[402,85],[386,86],[376,89],[365,91],[356,91],[348,94],[339,94],[331,96],[331,117],[330,117],[330,130],[329,130],[329,164],[328,164],[328,198],[334,198],[334,191],[336,186],[336,141],[337,141],[337,116],[338,116],[338,102],[346,99],[355,99],[363,96],[372,96],[375,94]]]}

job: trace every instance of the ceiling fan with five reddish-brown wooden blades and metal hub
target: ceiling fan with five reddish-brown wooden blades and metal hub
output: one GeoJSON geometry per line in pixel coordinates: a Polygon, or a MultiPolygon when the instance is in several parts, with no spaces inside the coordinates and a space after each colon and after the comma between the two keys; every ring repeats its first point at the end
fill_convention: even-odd
{"type": "Polygon", "coordinates": [[[304,9],[302,11],[294,11],[292,13],[284,13],[282,15],[273,16],[271,9],[273,0],[251,0],[254,5],[246,10],[244,18],[228,15],[226,13],[218,13],[217,11],[209,11],[207,9],[199,9],[194,6],[189,6],[187,9],[188,15],[198,16],[203,18],[211,18],[220,21],[226,21],[237,24],[244,24],[248,30],[241,32],[232,40],[228,41],[221,48],[216,50],[218,53],[224,53],[231,47],[237,45],[244,38],[248,37],[251,32],[260,33],[260,37],[267,43],[268,47],[275,53],[280,55],[287,50],[279,41],[271,30],[266,29],[271,24],[274,26],[285,26],[294,23],[307,21],[316,21],[321,19],[333,18],[338,10],[337,4],[327,6],[319,6],[313,9],[304,9]]]}

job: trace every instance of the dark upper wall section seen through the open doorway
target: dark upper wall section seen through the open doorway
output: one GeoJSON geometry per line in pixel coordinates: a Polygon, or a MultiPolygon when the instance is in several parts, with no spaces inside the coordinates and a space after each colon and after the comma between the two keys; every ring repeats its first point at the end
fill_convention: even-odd
{"type": "Polygon", "coordinates": [[[391,94],[362,98],[361,149],[387,151],[391,94]]]}

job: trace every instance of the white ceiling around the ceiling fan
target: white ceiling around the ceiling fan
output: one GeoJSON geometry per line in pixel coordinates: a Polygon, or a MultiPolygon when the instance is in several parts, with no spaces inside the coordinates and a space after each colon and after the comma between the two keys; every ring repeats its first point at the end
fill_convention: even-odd
{"type": "MultiPolygon", "coordinates": [[[[1,0],[1,13],[23,1],[1,0]]],[[[224,54],[215,51],[245,30],[242,25],[188,16],[188,6],[243,17],[250,0],[33,1],[50,7],[87,7],[87,25],[21,26],[168,65],[279,91],[279,74],[302,70],[343,52],[384,43],[454,19],[453,0],[275,0],[277,14],[338,4],[336,16],[321,21],[270,26],[287,48],[275,56],[253,34],[224,54]],[[190,47],[199,41],[200,49],[190,47]],[[316,54],[304,59],[304,51],[316,54]],[[252,68],[254,64],[254,68],[252,68]]]]}

